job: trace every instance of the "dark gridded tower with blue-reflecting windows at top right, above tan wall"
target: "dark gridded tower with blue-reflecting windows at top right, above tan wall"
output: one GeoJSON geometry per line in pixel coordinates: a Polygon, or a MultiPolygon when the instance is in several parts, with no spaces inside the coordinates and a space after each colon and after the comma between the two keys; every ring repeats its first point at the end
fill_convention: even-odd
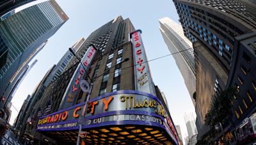
{"type": "Polygon", "coordinates": [[[184,34],[200,41],[226,72],[230,69],[234,37],[256,31],[256,5],[249,1],[174,0],[184,34]]]}

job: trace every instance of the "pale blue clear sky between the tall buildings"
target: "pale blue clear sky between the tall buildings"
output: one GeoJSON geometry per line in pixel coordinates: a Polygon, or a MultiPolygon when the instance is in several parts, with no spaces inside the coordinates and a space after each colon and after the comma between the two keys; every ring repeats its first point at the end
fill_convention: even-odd
{"type": "MultiPolygon", "coordinates": [[[[159,31],[158,20],[169,17],[179,23],[172,0],[74,0],[72,3],[68,0],[56,1],[68,15],[69,20],[49,39],[45,48],[34,58],[34,60],[38,59],[38,62],[28,73],[12,100],[13,106],[18,110],[50,67],[57,64],[67,52],[68,47],[79,38],[87,38],[91,32],[119,15],[122,15],[124,19],[130,18],[134,27],[141,29],[148,60],[170,53],[159,31]]],[[[149,65],[154,83],[166,95],[173,121],[175,125],[180,125],[182,137],[185,137],[184,135],[188,133],[184,113],[194,109],[175,60],[173,57],[164,57],[149,62],[149,65]]],[[[11,124],[17,114],[17,111],[12,109],[11,124]]]]}

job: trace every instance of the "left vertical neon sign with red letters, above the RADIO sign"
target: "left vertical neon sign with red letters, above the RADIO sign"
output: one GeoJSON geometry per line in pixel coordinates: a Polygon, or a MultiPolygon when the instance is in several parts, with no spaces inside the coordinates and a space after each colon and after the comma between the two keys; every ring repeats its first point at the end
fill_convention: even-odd
{"type": "Polygon", "coordinates": [[[96,53],[97,49],[95,46],[90,45],[86,53],[84,54],[83,59],[81,60],[82,64],[77,66],[76,71],[74,72],[72,78],[70,79],[70,83],[68,84],[67,90],[65,91],[64,97],[62,97],[60,103],[60,109],[74,106],[76,99],[78,97],[79,90],[81,90],[81,86],[79,85],[80,81],[83,80],[84,75],[90,68],[90,64],[93,60],[93,57],[96,53]],[[82,66],[83,65],[83,66],[82,66]],[[84,70],[86,69],[86,70],[84,70]]]}

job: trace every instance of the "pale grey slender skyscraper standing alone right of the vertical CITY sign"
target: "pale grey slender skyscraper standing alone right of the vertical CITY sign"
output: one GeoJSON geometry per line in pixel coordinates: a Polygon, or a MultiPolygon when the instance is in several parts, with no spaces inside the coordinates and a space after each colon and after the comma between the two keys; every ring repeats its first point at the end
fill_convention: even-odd
{"type": "Polygon", "coordinates": [[[168,46],[188,88],[189,95],[195,106],[193,93],[196,91],[195,57],[192,43],[184,36],[182,27],[168,17],[159,20],[160,31],[168,46]]]}

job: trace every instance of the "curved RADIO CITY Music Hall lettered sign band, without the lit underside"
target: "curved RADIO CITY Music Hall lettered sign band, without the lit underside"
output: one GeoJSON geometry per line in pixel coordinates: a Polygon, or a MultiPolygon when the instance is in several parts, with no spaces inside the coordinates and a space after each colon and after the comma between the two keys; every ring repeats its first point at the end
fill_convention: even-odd
{"type": "Polygon", "coordinates": [[[85,103],[49,114],[38,121],[38,131],[78,129],[105,125],[154,125],[164,128],[177,141],[170,116],[157,97],[135,90],[121,90],[104,94],[88,102],[85,116],[81,116],[85,103]],[[175,139],[176,138],[176,139],[175,139]]]}

